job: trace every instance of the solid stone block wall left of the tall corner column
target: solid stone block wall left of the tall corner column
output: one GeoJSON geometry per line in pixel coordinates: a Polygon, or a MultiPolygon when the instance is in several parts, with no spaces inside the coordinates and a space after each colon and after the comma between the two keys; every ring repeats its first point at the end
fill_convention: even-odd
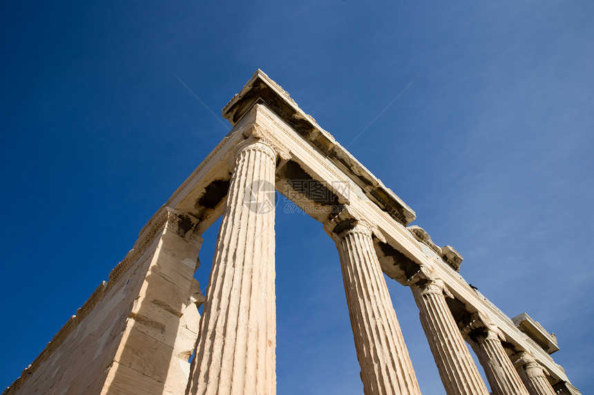
{"type": "Polygon", "coordinates": [[[196,220],[162,208],[126,258],[3,394],[180,394],[202,303],[196,220]]]}

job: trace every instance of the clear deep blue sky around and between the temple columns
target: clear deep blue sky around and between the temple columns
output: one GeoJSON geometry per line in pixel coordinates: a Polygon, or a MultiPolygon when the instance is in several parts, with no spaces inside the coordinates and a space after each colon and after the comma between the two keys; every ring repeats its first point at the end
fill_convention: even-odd
{"type": "MultiPolygon", "coordinates": [[[[594,3],[1,8],[0,387],[227,133],[175,76],[220,114],[261,68],[464,256],[468,282],[555,332],[555,361],[594,392],[594,3]]],[[[361,394],[336,248],[282,211],[278,393],[361,394]]],[[[410,290],[389,287],[423,394],[444,394],[410,290]]]]}

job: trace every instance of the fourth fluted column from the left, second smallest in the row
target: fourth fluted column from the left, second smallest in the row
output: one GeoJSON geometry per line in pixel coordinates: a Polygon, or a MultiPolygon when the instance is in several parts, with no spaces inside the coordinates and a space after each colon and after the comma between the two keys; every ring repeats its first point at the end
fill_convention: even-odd
{"type": "Polygon", "coordinates": [[[499,340],[497,330],[486,327],[485,332],[475,336],[477,356],[495,395],[528,395],[510,357],[499,340]]]}

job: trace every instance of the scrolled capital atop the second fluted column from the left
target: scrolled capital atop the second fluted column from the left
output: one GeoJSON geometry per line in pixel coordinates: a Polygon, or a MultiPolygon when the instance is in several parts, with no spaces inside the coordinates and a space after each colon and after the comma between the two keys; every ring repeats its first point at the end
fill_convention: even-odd
{"type": "Polygon", "coordinates": [[[347,234],[359,233],[370,237],[375,235],[385,242],[385,238],[379,229],[372,225],[370,221],[367,221],[351,205],[343,205],[338,214],[330,217],[324,223],[324,230],[334,241],[343,239],[347,234]]]}

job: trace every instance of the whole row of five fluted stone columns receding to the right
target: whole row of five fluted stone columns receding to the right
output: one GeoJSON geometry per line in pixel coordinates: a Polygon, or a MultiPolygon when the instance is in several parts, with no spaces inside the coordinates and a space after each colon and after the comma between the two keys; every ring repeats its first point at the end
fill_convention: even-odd
{"type": "MultiPolygon", "coordinates": [[[[271,143],[253,137],[236,150],[186,394],[276,394],[277,155],[271,143]]],[[[374,249],[378,230],[351,207],[329,219],[325,230],[340,256],[363,392],[420,395],[374,249]]],[[[475,347],[493,394],[555,394],[530,354],[512,364],[496,328],[481,326],[480,317],[459,328],[446,303],[446,285],[427,267],[409,283],[448,395],[489,394],[463,334],[475,347]]]]}

